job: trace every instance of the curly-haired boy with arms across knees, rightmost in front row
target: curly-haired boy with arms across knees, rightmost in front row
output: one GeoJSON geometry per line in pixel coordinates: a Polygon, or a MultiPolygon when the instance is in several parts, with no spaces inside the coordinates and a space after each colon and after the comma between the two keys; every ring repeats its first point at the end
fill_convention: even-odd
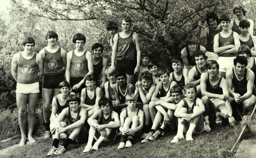
{"type": "Polygon", "coordinates": [[[193,131],[201,133],[206,129],[203,116],[204,104],[201,99],[196,98],[196,86],[191,83],[186,84],[184,93],[187,98],[180,101],[174,112],[174,115],[178,117],[178,132],[171,143],[178,143],[184,139],[183,132],[186,133],[186,140],[192,141],[194,140],[193,131]]]}

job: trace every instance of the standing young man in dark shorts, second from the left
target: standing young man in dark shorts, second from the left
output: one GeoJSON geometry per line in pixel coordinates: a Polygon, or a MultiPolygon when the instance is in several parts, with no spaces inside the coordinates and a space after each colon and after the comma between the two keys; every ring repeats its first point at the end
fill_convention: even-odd
{"type": "Polygon", "coordinates": [[[50,138],[50,103],[52,98],[60,93],[59,84],[64,81],[66,70],[66,51],[57,46],[58,35],[48,31],[45,35],[48,46],[39,54],[43,57],[43,117],[46,133],[44,138],[50,138]]]}

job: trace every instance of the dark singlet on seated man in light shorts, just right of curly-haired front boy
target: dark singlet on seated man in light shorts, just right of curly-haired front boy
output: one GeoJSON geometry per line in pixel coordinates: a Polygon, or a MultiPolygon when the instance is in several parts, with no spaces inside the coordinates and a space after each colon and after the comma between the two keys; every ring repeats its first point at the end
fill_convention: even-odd
{"type": "Polygon", "coordinates": [[[218,82],[216,84],[212,84],[208,73],[207,73],[207,76],[208,76],[208,79],[206,81],[206,91],[213,94],[223,94],[223,90],[220,87],[220,84],[224,78],[220,76],[220,78],[218,79],[218,82]]]}

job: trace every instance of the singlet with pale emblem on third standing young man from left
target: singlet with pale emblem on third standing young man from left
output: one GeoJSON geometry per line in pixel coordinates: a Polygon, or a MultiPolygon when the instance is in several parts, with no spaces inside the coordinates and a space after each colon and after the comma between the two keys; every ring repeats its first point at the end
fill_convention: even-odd
{"type": "Polygon", "coordinates": [[[82,56],[76,56],[75,51],[72,51],[72,57],[70,60],[71,69],[70,69],[70,77],[72,78],[81,78],[85,77],[88,74],[88,62],[86,60],[86,53],[84,52],[82,56]]]}

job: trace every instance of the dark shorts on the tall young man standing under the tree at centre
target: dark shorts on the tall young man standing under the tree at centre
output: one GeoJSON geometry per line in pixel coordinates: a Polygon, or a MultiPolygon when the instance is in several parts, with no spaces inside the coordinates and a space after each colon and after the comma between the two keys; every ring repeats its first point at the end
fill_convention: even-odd
{"type": "Polygon", "coordinates": [[[116,70],[123,71],[126,74],[134,74],[134,69],[136,68],[137,60],[116,60],[116,70]]]}

